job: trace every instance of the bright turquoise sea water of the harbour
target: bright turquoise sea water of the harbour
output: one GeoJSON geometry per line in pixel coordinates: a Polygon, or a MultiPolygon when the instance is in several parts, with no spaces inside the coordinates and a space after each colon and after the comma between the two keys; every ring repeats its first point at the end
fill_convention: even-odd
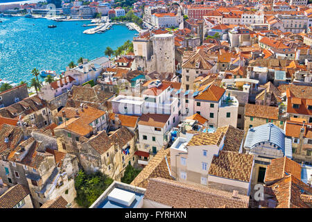
{"type": "Polygon", "coordinates": [[[90,21],[53,22],[47,19],[24,17],[1,18],[0,23],[0,79],[19,83],[29,81],[31,70],[55,70],[59,74],[73,60],[93,60],[104,56],[107,46],[116,49],[132,40],[137,31],[124,25],[114,25],[101,34],[87,35],[83,27],[90,21]],[[55,24],[56,28],[48,28],[55,24]]]}

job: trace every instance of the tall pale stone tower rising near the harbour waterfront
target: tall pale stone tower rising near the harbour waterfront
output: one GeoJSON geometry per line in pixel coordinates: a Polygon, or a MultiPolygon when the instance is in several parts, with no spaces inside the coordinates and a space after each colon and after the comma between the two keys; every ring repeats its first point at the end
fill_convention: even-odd
{"type": "Polygon", "coordinates": [[[156,71],[175,72],[175,40],[172,34],[153,36],[153,51],[156,71]]]}

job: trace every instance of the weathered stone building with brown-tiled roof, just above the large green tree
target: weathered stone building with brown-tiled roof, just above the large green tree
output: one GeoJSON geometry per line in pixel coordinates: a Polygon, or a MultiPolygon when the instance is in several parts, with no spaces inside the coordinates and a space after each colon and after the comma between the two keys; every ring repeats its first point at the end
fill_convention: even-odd
{"type": "Polygon", "coordinates": [[[98,132],[78,144],[78,157],[84,171],[101,171],[114,180],[121,180],[125,167],[135,163],[135,135],[125,127],[98,132]]]}

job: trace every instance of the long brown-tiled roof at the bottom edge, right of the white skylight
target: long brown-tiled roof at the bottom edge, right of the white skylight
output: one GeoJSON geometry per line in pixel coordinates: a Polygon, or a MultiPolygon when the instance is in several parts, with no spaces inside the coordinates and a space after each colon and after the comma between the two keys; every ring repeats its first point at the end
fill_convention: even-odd
{"type": "Polygon", "coordinates": [[[152,178],[146,187],[144,199],[173,208],[248,208],[249,197],[210,189],[202,185],[182,183],[164,178],[152,178]]]}

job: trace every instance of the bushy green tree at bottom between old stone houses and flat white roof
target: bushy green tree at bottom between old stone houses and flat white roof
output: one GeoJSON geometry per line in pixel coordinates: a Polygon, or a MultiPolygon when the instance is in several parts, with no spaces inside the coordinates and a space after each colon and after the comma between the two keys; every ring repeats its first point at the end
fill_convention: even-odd
{"type": "Polygon", "coordinates": [[[87,174],[80,170],[75,178],[76,202],[82,207],[91,206],[113,181],[100,171],[87,174]]]}

